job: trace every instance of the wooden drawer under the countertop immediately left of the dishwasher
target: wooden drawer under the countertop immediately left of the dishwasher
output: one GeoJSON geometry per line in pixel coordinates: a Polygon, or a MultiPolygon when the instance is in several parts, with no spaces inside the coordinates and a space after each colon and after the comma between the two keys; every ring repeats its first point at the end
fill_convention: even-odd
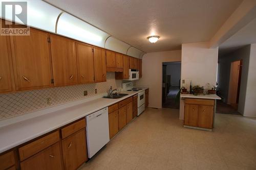
{"type": "Polygon", "coordinates": [[[61,137],[62,139],[68,137],[69,135],[79,131],[80,129],[86,127],[86,119],[81,119],[65,128],[61,129],[61,137]]]}

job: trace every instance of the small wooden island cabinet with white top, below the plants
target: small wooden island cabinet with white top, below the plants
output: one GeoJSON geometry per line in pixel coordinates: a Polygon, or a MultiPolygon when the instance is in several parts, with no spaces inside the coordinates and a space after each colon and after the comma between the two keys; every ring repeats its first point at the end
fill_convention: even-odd
{"type": "Polygon", "coordinates": [[[211,131],[214,128],[216,94],[181,94],[180,118],[184,117],[184,127],[211,131]]]}

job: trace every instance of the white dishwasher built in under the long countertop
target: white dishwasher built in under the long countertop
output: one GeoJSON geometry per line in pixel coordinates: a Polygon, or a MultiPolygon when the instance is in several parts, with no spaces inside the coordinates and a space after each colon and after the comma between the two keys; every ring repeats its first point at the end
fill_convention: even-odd
{"type": "Polygon", "coordinates": [[[108,107],[86,116],[88,157],[92,158],[110,141],[108,107]]]}

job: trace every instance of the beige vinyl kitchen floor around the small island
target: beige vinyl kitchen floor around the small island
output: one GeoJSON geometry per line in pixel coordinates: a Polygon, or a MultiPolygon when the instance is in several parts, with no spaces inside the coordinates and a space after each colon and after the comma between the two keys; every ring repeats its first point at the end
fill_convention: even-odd
{"type": "Polygon", "coordinates": [[[256,169],[255,118],[216,114],[208,132],[178,116],[147,108],[79,169],[256,169]]]}

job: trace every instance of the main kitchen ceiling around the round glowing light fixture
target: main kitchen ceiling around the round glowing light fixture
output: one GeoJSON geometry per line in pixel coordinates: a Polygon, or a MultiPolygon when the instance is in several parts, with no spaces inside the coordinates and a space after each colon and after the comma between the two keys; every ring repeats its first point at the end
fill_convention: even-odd
{"type": "Polygon", "coordinates": [[[242,0],[44,0],[144,52],[209,41],[242,0]],[[146,37],[159,35],[151,44],[146,37]]]}

